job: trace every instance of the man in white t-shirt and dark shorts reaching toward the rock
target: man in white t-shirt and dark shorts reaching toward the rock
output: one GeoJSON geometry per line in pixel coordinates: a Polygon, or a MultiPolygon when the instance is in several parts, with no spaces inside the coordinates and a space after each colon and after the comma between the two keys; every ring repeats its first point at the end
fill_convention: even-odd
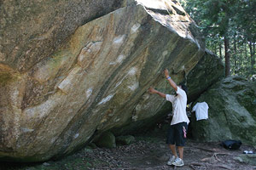
{"type": "Polygon", "coordinates": [[[171,126],[167,133],[166,144],[169,144],[173,156],[171,156],[169,161],[167,161],[167,165],[182,167],[184,165],[183,148],[186,142],[186,133],[189,124],[189,118],[186,113],[187,88],[185,85],[177,86],[169,76],[169,71],[167,69],[165,70],[165,76],[177,95],[163,94],[154,88],[149,88],[148,91],[151,94],[158,94],[160,97],[166,98],[166,100],[172,102],[173,116],[171,126]],[[177,156],[176,146],[179,157],[177,156]]]}

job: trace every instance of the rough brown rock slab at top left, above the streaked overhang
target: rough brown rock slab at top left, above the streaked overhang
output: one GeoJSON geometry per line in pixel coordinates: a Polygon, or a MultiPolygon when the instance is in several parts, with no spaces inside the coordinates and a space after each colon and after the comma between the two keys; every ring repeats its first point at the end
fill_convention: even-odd
{"type": "Polygon", "coordinates": [[[79,26],[120,8],[123,0],[1,1],[0,70],[29,71],[79,26]],[[3,68],[4,69],[4,68],[3,68]]]}

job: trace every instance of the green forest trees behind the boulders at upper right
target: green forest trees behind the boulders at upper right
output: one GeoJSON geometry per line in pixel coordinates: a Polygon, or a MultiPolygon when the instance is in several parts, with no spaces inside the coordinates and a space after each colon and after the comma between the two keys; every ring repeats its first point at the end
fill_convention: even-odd
{"type": "Polygon", "coordinates": [[[206,48],[225,63],[225,77],[256,81],[255,0],[181,0],[206,41],[206,48]]]}

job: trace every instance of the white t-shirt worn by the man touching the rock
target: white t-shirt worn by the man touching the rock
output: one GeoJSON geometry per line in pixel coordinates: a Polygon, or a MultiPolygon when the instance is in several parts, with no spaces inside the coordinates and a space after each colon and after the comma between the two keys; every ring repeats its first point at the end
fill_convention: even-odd
{"type": "Polygon", "coordinates": [[[172,102],[172,122],[171,125],[179,122],[187,122],[189,124],[189,118],[186,112],[187,106],[187,94],[183,89],[177,87],[177,96],[166,94],[166,100],[172,102]]]}

